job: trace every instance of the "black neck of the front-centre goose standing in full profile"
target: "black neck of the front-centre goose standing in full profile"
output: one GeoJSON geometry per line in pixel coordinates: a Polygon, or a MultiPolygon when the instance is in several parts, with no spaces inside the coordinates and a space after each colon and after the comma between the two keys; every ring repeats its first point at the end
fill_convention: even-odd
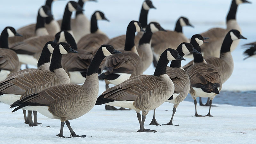
{"type": "Polygon", "coordinates": [[[169,60],[167,60],[167,52],[164,51],[157,62],[154,76],[160,76],[160,75],[166,74],[166,67],[168,62],[169,60]]]}

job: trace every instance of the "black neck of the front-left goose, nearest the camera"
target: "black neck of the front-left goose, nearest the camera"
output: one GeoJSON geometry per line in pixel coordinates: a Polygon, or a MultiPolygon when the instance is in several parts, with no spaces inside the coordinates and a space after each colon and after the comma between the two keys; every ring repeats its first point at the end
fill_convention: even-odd
{"type": "Polygon", "coordinates": [[[95,56],[94,56],[94,58],[93,58],[93,60],[92,60],[92,62],[90,64],[90,66],[89,66],[89,68],[87,70],[86,76],[90,76],[92,74],[98,73],[99,72],[100,63],[102,62],[102,60],[104,58],[105,57],[104,57],[104,54],[103,54],[102,50],[99,49],[96,52],[96,54],[95,54],[95,56]]]}

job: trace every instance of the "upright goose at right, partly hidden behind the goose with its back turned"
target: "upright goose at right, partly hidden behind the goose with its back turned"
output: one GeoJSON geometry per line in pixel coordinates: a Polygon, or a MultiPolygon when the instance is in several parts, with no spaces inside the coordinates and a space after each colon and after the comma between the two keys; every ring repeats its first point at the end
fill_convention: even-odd
{"type": "MultiPolygon", "coordinates": [[[[216,57],[205,57],[204,60],[214,65],[221,76],[221,82],[224,84],[228,78],[232,75],[233,69],[234,69],[234,62],[231,55],[231,47],[234,42],[236,42],[239,39],[246,39],[244,36],[240,34],[238,30],[232,29],[230,30],[227,35],[225,36],[221,49],[220,49],[220,58],[216,57]]],[[[189,67],[193,65],[193,61],[190,61],[187,65],[185,65],[183,68],[185,71],[188,70],[189,67]]],[[[208,98],[206,104],[204,105],[202,103],[202,99],[199,99],[199,103],[201,106],[209,106],[210,98],[208,98]]]]}

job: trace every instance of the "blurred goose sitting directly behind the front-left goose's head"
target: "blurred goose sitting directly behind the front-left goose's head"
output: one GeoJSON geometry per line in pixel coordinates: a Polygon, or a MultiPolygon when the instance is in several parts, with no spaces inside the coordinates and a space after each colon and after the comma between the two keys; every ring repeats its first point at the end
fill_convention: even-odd
{"type": "Polygon", "coordinates": [[[100,45],[108,42],[109,38],[98,28],[98,20],[109,21],[103,12],[96,11],[91,18],[91,34],[83,36],[77,43],[78,49],[84,49],[94,54],[98,51],[100,45]]]}

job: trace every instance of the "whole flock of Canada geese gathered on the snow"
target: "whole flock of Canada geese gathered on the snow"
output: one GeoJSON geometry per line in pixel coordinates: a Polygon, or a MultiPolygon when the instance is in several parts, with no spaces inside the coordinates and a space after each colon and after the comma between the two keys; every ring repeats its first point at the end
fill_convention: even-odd
{"type": "MultiPolygon", "coordinates": [[[[58,21],[52,17],[52,1],[46,0],[39,8],[36,24],[2,31],[0,101],[11,105],[12,112],[22,109],[29,126],[40,124],[37,112],[60,119],[57,136],[64,138],[68,138],[63,136],[65,123],[70,137],[86,137],[76,135],[69,120],[83,116],[95,104],[106,104],[107,110],[116,110],[114,106],[135,110],[138,132],[156,132],[145,129],[144,122],[148,112],[154,110],[150,124],[160,125],[155,110],[164,102],[173,104],[171,120],[164,125],[174,125],[176,108],[188,93],[194,99],[195,116],[202,116],[197,114],[197,97],[209,99],[206,116],[212,116],[212,100],[233,72],[231,52],[240,39],[246,39],[236,22],[237,7],[250,3],[232,0],[226,29],[212,28],[188,39],[182,27],[193,26],[185,17],[177,20],[173,31],[157,22],[148,23],[148,12],[156,7],[145,0],[139,21],[128,24],[126,35],[109,39],[97,24],[99,20],[109,21],[103,12],[94,12],[91,20],[85,17],[83,5],[88,0],[69,1],[63,19],[58,21]],[[75,11],[75,19],[71,19],[75,11]],[[183,57],[192,55],[194,60],[182,67],[183,57]],[[167,66],[169,61],[171,65],[167,66]],[[143,75],[152,62],[156,67],[154,75],[143,75]],[[37,69],[20,70],[21,64],[35,65],[37,69]],[[106,83],[106,91],[100,97],[99,79],[106,83]],[[109,84],[116,86],[109,88],[109,84]]],[[[244,52],[247,58],[256,55],[256,43],[248,45],[251,48],[244,52]]]]}

